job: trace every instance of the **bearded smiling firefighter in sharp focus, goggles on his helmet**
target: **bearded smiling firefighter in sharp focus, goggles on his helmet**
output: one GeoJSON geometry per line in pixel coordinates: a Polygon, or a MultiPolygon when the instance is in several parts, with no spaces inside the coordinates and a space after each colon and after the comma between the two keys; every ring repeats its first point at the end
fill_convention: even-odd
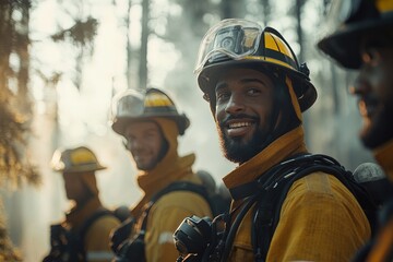
{"type": "Polygon", "coordinates": [[[315,168],[286,195],[276,192],[281,205],[273,202],[277,194],[267,192],[298,170],[318,166],[305,160],[312,156],[301,115],[317,92],[284,37],[258,23],[224,20],[204,36],[195,73],[224,155],[239,164],[223,179],[233,196],[225,247],[206,249],[203,258],[214,250],[210,255],[221,252],[214,261],[348,261],[370,237],[370,226],[337,177],[315,168]],[[273,231],[270,212],[278,214],[273,231]]]}

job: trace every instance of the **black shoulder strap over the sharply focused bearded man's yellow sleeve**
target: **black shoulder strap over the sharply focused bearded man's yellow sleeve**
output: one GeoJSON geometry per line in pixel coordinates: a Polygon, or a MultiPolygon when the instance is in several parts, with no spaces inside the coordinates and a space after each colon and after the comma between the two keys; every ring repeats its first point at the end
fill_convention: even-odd
{"type": "Polygon", "coordinates": [[[312,172],[323,171],[335,176],[357,199],[373,227],[376,221],[376,205],[367,191],[358,184],[352,174],[334,158],[325,155],[308,155],[294,158],[282,167],[279,176],[265,182],[253,211],[254,222],[251,231],[251,241],[255,253],[255,261],[264,261],[270,242],[279,221],[281,207],[293,183],[312,172]]]}

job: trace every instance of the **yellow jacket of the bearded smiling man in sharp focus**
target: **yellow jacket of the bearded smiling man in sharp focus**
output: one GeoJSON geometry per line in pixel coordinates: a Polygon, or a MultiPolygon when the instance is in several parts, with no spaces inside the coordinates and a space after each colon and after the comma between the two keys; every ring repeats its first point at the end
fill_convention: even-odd
{"type": "MultiPolygon", "coordinates": [[[[250,182],[273,165],[305,152],[299,127],[240,165],[224,182],[229,189],[250,182]]],[[[231,209],[239,202],[234,202],[231,209]]],[[[238,228],[228,261],[254,261],[251,223],[250,210],[238,228]]],[[[368,219],[354,195],[333,175],[314,172],[291,186],[266,261],[349,261],[369,237],[368,219]]]]}

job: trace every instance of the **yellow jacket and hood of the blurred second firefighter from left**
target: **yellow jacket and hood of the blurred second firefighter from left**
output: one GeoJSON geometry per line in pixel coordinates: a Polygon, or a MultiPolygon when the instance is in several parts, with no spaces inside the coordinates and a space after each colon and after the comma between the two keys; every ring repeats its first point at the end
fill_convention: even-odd
{"type": "MultiPolygon", "coordinates": [[[[174,121],[164,118],[154,119],[162,127],[168,141],[168,152],[153,170],[140,171],[138,183],[144,191],[143,198],[131,210],[136,218],[133,236],[140,233],[143,223],[143,211],[148,202],[160,190],[176,181],[189,181],[201,184],[201,180],[192,171],[194,154],[178,156],[178,130],[174,121]]],[[[146,262],[170,262],[179,257],[172,234],[180,223],[191,215],[212,216],[206,200],[198,193],[172,191],[155,202],[147,215],[144,237],[146,262]]]]}

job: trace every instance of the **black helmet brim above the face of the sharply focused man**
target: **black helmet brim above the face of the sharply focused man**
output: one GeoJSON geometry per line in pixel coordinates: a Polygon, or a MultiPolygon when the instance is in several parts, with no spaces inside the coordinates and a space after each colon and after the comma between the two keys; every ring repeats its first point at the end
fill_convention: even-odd
{"type": "Polygon", "coordinates": [[[293,80],[293,85],[298,97],[301,111],[306,111],[314,104],[318,96],[317,90],[307,75],[290,68],[269,61],[249,59],[242,61],[227,60],[213,63],[203,68],[202,72],[198,75],[198,84],[203,93],[210,94],[210,92],[215,88],[214,85],[217,82],[215,76],[217,76],[221,72],[230,68],[250,68],[259,70],[261,66],[265,66],[266,68],[277,68],[288,74],[288,76],[293,80]]]}

